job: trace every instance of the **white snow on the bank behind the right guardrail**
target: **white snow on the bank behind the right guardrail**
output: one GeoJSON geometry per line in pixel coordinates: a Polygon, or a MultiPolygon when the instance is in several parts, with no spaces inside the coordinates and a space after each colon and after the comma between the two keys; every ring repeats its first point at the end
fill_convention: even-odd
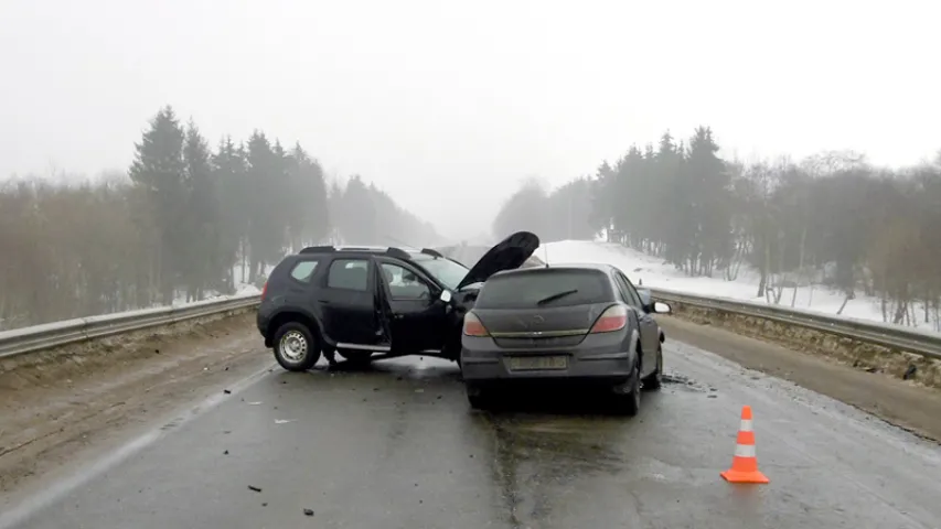
{"type": "MultiPolygon", "coordinates": [[[[689,277],[673,264],[664,262],[662,258],[627,248],[616,242],[601,242],[588,240],[564,240],[547,242],[536,250],[536,256],[546,259],[549,263],[562,264],[564,262],[607,262],[621,269],[634,284],[643,284],[653,289],[673,290],[688,294],[708,295],[715,298],[729,298],[738,301],[750,301],[767,303],[767,300],[758,298],[758,274],[752,270],[745,270],[736,281],[726,281],[721,271],[716,277],[689,277]]],[[[784,289],[781,295],[780,306],[790,307],[793,289],[784,289]]],[[[841,292],[828,290],[826,287],[814,285],[798,288],[798,296],[794,309],[821,312],[836,315],[840,305],[843,304],[844,295],[841,292]]],[[[857,298],[849,300],[843,310],[843,316],[883,322],[879,300],[866,298],[857,293],[857,298]]],[[[923,314],[919,313],[919,317],[923,314]]],[[[931,330],[932,324],[919,322],[919,328],[931,330]]]]}

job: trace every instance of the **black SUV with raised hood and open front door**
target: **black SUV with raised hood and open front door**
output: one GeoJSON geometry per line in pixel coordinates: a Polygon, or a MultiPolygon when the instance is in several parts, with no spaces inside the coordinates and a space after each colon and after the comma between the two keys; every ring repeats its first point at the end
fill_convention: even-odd
{"type": "Polygon", "coordinates": [[[355,363],[374,353],[459,361],[463,316],[483,282],[518,268],[538,247],[538,237],[520,231],[470,269],[432,249],[304,248],[271,271],[258,331],[291,371],[313,367],[323,349],[355,363]]]}

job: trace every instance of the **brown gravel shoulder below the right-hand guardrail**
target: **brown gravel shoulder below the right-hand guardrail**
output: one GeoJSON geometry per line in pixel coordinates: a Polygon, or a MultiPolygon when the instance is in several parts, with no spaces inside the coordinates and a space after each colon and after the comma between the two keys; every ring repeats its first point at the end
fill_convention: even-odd
{"type": "Polygon", "coordinates": [[[854,369],[825,356],[812,356],[710,325],[675,317],[657,320],[667,341],[695,345],[742,367],[790,380],[912,433],[941,441],[941,391],[937,389],[854,369]]]}

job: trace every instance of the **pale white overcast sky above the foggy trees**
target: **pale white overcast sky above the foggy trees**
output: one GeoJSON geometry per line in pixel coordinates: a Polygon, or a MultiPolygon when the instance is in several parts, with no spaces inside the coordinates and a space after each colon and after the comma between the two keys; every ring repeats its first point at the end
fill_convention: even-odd
{"type": "Polygon", "coordinates": [[[0,0],[0,175],[122,170],[165,104],[213,144],[300,141],[455,237],[664,129],[915,163],[941,148],[933,3],[0,0]]]}

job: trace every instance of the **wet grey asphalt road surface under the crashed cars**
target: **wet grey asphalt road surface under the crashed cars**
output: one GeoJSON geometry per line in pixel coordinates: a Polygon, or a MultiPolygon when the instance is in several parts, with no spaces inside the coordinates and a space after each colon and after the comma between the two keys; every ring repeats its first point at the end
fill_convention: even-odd
{"type": "Polygon", "coordinates": [[[275,369],[0,527],[941,526],[937,444],[702,349],[665,354],[670,384],[634,419],[564,392],[471,412],[453,365],[427,358],[275,369]],[[742,404],[769,485],[719,477],[742,404]]]}

